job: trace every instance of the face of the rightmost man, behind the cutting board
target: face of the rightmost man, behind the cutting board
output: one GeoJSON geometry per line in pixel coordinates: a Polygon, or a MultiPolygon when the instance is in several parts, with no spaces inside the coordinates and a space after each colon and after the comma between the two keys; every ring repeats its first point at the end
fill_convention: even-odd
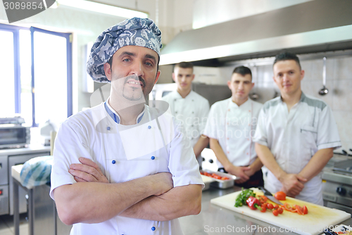
{"type": "Polygon", "coordinates": [[[278,61],[274,67],[274,82],[282,96],[291,96],[301,93],[301,80],[304,71],[294,60],[278,61]]]}

